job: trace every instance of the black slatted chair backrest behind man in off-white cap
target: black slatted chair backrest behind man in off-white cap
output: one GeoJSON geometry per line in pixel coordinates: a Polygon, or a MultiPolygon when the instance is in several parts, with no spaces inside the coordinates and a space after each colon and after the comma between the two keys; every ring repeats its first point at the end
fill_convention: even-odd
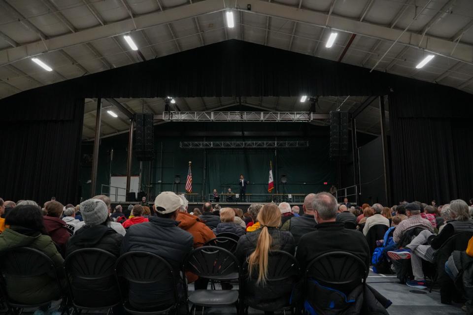
{"type": "Polygon", "coordinates": [[[125,298],[124,302],[128,300],[126,290],[130,285],[143,284],[149,288],[150,284],[156,284],[159,285],[163,296],[167,295],[166,291],[172,292],[174,301],[169,300],[169,304],[177,303],[176,278],[178,275],[174,274],[171,265],[163,257],[144,251],[127,252],[117,259],[115,266],[121,296],[125,298]],[[127,284],[125,285],[120,279],[126,280],[127,284]]]}

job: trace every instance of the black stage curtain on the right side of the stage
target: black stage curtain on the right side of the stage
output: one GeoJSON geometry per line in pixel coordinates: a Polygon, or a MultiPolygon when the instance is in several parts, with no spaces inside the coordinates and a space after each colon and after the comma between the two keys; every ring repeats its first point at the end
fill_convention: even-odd
{"type": "Polygon", "coordinates": [[[424,82],[390,95],[393,201],[473,197],[472,99],[424,82]]]}

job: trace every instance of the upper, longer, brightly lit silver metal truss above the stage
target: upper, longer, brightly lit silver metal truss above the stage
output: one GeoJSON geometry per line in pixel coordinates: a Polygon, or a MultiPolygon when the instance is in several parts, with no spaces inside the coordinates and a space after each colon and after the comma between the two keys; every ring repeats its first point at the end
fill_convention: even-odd
{"type": "Polygon", "coordinates": [[[328,119],[311,112],[163,112],[167,122],[310,122],[328,119]]]}

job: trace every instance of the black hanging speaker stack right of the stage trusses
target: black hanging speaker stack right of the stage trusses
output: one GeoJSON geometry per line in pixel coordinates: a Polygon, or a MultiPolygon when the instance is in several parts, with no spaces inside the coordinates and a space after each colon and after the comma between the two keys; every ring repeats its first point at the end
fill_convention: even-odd
{"type": "Polygon", "coordinates": [[[330,157],[348,153],[348,112],[330,112],[330,157]]]}

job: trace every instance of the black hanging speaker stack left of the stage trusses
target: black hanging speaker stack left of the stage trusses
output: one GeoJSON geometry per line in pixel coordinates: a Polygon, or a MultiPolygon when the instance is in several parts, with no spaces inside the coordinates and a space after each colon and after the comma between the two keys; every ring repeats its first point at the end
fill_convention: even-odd
{"type": "Polygon", "coordinates": [[[135,152],[138,161],[154,158],[153,114],[135,114],[135,152]]]}

